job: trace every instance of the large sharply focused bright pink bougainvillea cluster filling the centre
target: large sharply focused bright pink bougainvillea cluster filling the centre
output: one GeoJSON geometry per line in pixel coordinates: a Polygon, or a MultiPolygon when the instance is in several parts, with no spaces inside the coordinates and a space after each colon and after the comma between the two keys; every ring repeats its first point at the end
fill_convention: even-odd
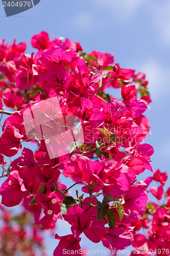
{"type": "MultiPolygon", "coordinates": [[[[57,219],[68,222],[71,234],[56,234],[55,256],[63,255],[63,249],[79,250],[82,233],[93,243],[102,241],[115,255],[134,242],[134,235],[136,239],[133,223],[141,220],[147,205],[145,183],[136,180],[145,169],[153,172],[153,147],[142,143],[150,133],[143,115],[151,102],[148,82],[144,74],[114,63],[112,54],[86,54],[68,38],[50,40],[41,32],[31,44],[36,54],[26,54],[23,42],[8,46],[3,40],[0,46],[0,112],[9,115],[0,138],[3,176],[9,176],[0,190],[2,204],[11,207],[23,201],[35,224],[45,229],[55,227],[57,219]],[[121,90],[119,99],[109,96],[109,87],[121,90]],[[54,98],[67,123],[56,119],[54,98]],[[32,109],[41,122],[31,125],[28,134],[25,116],[32,109]],[[68,134],[69,118],[75,116],[81,121],[83,143],[76,136],[74,143],[62,137],[63,127],[68,134]],[[49,135],[53,142],[62,139],[60,147],[49,135]],[[23,141],[36,143],[36,152],[23,148],[23,141]],[[54,158],[48,154],[50,146],[54,158]],[[6,170],[4,156],[20,150],[6,170]],[[63,175],[69,177],[70,187],[61,183],[63,175]],[[76,190],[71,195],[78,183],[83,194],[76,190]]],[[[32,115],[27,123],[34,119],[32,115]]],[[[160,191],[162,186],[152,189],[158,197],[160,191]]]]}

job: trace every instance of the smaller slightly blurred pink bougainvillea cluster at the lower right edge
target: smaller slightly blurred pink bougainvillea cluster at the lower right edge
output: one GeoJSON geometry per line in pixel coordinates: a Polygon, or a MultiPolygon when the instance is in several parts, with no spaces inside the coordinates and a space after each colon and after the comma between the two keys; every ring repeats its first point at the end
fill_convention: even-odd
{"type": "Polygon", "coordinates": [[[167,190],[163,189],[166,180],[167,173],[160,172],[159,169],[155,170],[152,177],[145,180],[147,186],[143,189],[147,194],[151,193],[157,199],[157,203],[149,201],[142,219],[133,223],[135,226],[133,247],[139,255],[170,254],[170,187],[167,190]],[[157,188],[148,188],[152,181],[157,181],[157,188]]]}

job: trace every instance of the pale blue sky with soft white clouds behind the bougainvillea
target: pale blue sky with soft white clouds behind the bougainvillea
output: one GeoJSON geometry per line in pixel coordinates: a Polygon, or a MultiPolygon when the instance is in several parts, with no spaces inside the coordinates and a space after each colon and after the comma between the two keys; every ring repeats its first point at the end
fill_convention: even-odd
{"type": "MultiPolygon", "coordinates": [[[[146,112],[152,135],[145,143],[155,149],[153,169],[169,173],[169,13],[167,0],[41,0],[33,9],[7,18],[0,2],[0,40],[5,38],[9,44],[14,38],[17,42],[26,41],[27,52],[31,53],[31,36],[45,30],[51,38],[55,35],[79,41],[88,53],[113,53],[120,67],[145,73],[153,100],[146,112]]],[[[146,170],[141,178],[149,172],[146,170]]],[[[63,234],[63,227],[67,229],[65,224],[59,224],[59,234],[63,234]]],[[[49,256],[51,247],[55,245],[48,246],[49,256]]]]}

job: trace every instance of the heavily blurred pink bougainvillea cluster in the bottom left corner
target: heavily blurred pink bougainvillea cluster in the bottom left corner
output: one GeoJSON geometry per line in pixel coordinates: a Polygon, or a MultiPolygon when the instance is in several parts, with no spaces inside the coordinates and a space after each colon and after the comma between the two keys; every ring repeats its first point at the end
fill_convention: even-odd
{"type": "Polygon", "coordinates": [[[22,209],[13,215],[0,206],[0,255],[45,256],[42,230],[34,224],[31,212],[22,209]]]}

